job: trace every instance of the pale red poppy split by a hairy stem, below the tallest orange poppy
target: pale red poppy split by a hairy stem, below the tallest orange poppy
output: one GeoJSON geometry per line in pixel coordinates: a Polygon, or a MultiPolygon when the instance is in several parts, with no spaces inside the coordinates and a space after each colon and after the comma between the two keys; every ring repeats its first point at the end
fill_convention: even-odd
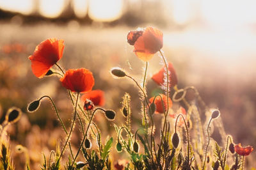
{"type": "MultiPolygon", "coordinates": [[[[155,73],[151,79],[156,82],[159,86],[164,84],[164,70],[165,66],[163,66],[159,72],[155,73]]],[[[168,63],[168,70],[169,70],[169,82],[170,87],[174,87],[178,83],[177,75],[175,69],[173,68],[172,63],[168,63]]]]}

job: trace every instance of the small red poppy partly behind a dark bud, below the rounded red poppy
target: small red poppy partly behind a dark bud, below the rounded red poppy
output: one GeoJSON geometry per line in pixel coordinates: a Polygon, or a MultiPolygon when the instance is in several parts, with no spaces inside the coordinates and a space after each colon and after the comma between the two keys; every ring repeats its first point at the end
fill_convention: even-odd
{"type": "Polygon", "coordinates": [[[81,97],[81,101],[84,102],[86,99],[89,99],[93,102],[94,105],[104,105],[105,104],[105,99],[104,99],[104,91],[100,89],[96,89],[93,91],[90,91],[88,93],[85,93],[81,97]]]}

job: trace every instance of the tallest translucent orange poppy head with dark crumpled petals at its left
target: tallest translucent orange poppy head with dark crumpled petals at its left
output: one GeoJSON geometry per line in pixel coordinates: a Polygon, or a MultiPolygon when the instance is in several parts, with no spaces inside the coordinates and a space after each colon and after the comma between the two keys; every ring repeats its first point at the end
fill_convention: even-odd
{"type": "Polygon", "coordinates": [[[150,60],[163,47],[163,33],[154,27],[146,27],[143,31],[130,31],[127,42],[134,45],[134,52],[143,61],[150,60]]]}

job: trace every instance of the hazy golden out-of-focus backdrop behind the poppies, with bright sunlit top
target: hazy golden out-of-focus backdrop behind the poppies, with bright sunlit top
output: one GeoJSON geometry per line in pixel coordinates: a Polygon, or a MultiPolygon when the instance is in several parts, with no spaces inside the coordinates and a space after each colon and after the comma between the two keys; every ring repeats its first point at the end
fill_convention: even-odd
{"type": "MultiPolygon", "coordinates": [[[[195,86],[209,107],[220,109],[234,143],[256,148],[255,6],[254,0],[0,0],[1,121],[9,107],[24,112],[8,129],[13,146],[28,147],[37,169],[42,151],[49,155],[63,135],[49,102],[34,113],[26,111],[28,102],[42,95],[54,99],[70,125],[72,107],[58,78],[37,79],[31,72],[28,56],[38,43],[53,37],[65,40],[60,65],[90,69],[93,89],[105,92],[104,107],[115,109],[122,120],[125,91],[134,114],[140,111],[138,89],[129,80],[113,79],[109,70],[120,66],[142,79],[145,63],[136,58],[126,36],[137,27],[154,26],[163,31],[164,54],[175,67],[179,88],[195,86]]],[[[150,77],[162,64],[158,54],[149,62],[149,97],[161,90],[150,77]]],[[[95,118],[99,120],[105,121],[95,118]]],[[[135,116],[134,126],[139,121],[135,116]]],[[[107,122],[99,126],[109,128],[107,122]]],[[[79,143],[79,136],[72,140],[79,143]]],[[[24,161],[19,164],[24,166],[24,161]]]]}

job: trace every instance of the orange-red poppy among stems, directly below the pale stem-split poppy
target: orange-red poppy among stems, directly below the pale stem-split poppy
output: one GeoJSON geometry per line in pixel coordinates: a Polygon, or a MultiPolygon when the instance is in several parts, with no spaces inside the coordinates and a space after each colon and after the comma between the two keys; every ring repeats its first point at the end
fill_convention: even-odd
{"type": "MultiPolygon", "coordinates": [[[[155,99],[154,104],[156,105],[156,114],[158,113],[164,113],[164,110],[167,109],[167,97],[166,95],[160,94],[161,97],[163,98],[163,104],[164,104],[164,108],[163,108],[163,104],[162,104],[162,100],[161,97],[157,96],[155,99]]],[[[154,97],[149,99],[149,102],[152,103],[154,100],[154,97]]],[[[172,107],[172,100],[170,99],[170,97],[168,98],[169,100],[169,108],[172,107]]]]}

